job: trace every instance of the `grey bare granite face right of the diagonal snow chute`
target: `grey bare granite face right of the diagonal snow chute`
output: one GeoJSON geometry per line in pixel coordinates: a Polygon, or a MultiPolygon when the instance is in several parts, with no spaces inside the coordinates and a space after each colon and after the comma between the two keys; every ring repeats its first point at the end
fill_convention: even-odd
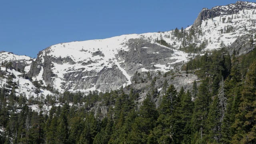
{"type": "Polygon", "coordinates": [[[144,39],[130,39],[127,43],[129,51],[119,51],[118,58],[123,61],[122,67],[125,68],[129,75],[133,75],[136,71],[141,72],[141,68],[147,70],[157,70],[157,65],[164,65],[166,69],[173,69],[173,62],[176,59],[171,59],[174,50],[152,44],[144,39]]]}

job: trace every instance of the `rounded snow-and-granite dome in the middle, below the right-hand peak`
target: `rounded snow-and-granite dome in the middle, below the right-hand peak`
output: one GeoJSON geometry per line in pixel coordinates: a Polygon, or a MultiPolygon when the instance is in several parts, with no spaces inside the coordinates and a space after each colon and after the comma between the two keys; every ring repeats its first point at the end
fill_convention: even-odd
{"type": "Polygon", "coordinates": [[[184,52],[130,34],[50,46],[38,54],[28,76],[61,91],[105,91],[131,84],[136,70],[168,71],[186,60],[184,52]]]}

